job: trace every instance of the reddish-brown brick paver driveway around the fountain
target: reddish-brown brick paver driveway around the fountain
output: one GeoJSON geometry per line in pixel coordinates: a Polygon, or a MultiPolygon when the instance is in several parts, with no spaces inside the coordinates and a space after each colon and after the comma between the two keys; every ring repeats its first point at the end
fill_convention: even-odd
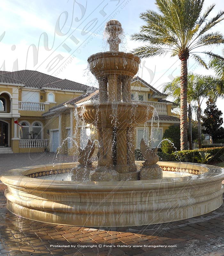
{"type": "MultiPolygon", "coordinates": [[[[54,161],[54,156],[49,153],[44,157],[41,154],[33,154],[30,159],[27,157],[28,154],[0,155],[1,171],[15,168],[15,165],[21,167],[54,161]]],[[[72,159],[60,156],[59,160],[70,162],[72,159]]],[[[165,224],[113,229],[71,227],[13,215],[6,209],[4,189],[0,184],[1,256],[224,255],[224,205],[200,217],[165,224]]]]}

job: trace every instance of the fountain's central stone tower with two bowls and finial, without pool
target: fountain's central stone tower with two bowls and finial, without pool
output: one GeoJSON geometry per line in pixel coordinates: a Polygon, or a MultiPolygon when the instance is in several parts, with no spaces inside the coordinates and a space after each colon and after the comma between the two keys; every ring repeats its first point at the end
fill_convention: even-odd
{"type": "Polygon", "coordinates": [[[131,102],[131,82],[140,59],[132,53],[119,52],[121,23],[108,21],[106,31],[110,51],[88,58],[90,70],[99,82],[99,104],[78,108],[80,118],[94,124],[99,134],[98,167],[90,180],[139,180],[134,162],[134,131],[138,123],[152,117],[153,106],[131,102]]]}

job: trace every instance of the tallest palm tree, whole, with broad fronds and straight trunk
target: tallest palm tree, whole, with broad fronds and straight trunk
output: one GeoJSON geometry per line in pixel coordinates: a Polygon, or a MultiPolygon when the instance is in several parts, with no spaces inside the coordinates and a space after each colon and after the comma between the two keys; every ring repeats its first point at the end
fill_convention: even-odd
{"type": "Polygon", "coordinates": [[[200,47],[224,43],[220,32],[208,32],[224,19],[224,12],[208,19],[215,4],[202,13],[204,0],[156,0],[159,12],[148,10],[140,14],[146,22],[132,40],[149,43],[133,50],[139,57],[148,58],[171,53],[181,61],[180,75],[180,149],[187,149],[187,60],[191,55],[200,65],[208,68],[198,53],[222,58],[215,53],[200,51],[200,47]],[[198,51],[198,52],[197,52],[198,51]]]}

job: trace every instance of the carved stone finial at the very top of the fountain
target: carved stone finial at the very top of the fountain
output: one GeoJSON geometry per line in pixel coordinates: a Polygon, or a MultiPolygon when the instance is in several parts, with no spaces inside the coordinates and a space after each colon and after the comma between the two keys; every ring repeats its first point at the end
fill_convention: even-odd
{"type": "Polygon", "coordinates": [[[107,42],[110,45],[110,52],[119,52],[119,44],[121,43],[119,35],[123,32],[121,23],[118,20],[109,20],[106,23],[105,31],[109,34],[107,42]]]}

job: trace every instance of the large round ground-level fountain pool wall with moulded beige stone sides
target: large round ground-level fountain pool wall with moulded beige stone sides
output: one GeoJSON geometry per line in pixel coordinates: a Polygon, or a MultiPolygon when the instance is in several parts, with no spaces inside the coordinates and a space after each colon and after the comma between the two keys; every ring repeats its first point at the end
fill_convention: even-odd
{"type": "Polygon", "coordinates": [[[222,204],[224,168],[205,164],[158,162],[163,171],[193,174],[161,180],[36,179],[68,173],[77,164],[40,165],[5,172],[0,179],[7,185],[8,210],[47,223],[124,227],[188,219],[222,204]]]}

